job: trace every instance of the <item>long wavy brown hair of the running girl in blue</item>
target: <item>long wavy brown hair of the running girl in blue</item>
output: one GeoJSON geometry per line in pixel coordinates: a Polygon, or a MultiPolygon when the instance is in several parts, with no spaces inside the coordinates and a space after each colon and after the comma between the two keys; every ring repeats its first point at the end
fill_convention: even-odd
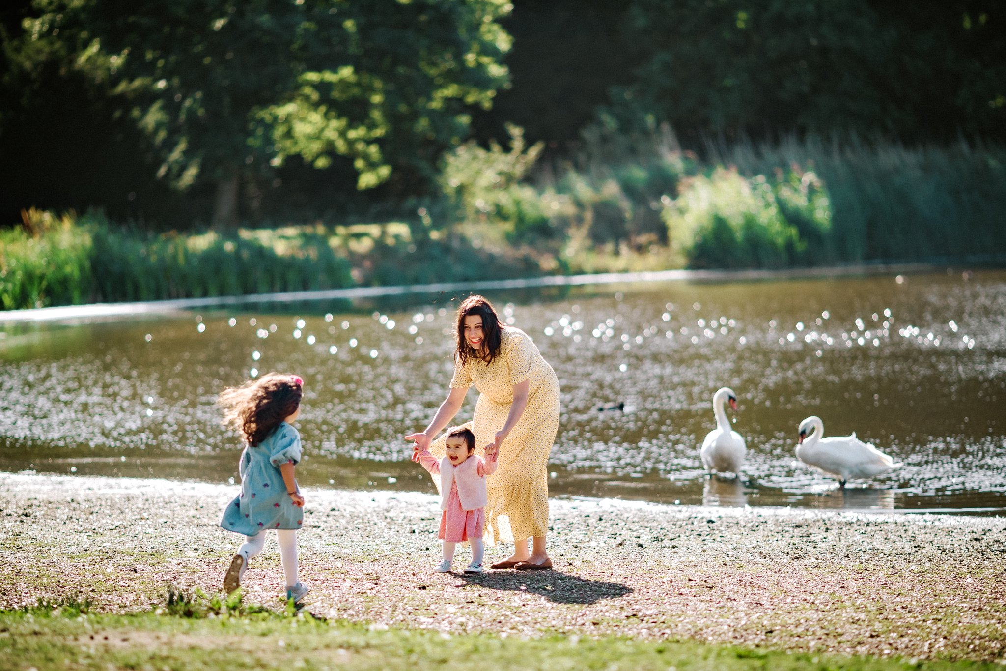
{"type": "Polygon", "coordinates": [[[300,407],[303,380],[296,375],[266,373],[241,386],[224,389],[216,399],[223,408],[223,426],[255,447],[269,438],[300,407]]]}

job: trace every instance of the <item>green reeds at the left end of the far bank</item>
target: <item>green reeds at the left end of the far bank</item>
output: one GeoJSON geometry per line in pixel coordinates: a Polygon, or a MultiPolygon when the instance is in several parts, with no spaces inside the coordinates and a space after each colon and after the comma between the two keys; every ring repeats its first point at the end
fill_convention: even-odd
{"type": "Polygon", "coordinates": [[[333,289],[353,284],[323,230],[154,234],[101,214],[30,210],[0,230],[0,306],[151,301],[333,289]]]}

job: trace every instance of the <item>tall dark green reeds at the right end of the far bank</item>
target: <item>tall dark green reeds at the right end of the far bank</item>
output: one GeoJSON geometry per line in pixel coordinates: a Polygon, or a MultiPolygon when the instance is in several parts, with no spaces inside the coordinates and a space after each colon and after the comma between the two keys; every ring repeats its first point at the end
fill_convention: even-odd
{"type": "Polygon", "coordinates": [[[775,145],[709,143],[707,150],[712,162],[748,177],[812,169],[828,194],[839,261],[1006,254],[1006,148],[791,137],[775,145]]]}

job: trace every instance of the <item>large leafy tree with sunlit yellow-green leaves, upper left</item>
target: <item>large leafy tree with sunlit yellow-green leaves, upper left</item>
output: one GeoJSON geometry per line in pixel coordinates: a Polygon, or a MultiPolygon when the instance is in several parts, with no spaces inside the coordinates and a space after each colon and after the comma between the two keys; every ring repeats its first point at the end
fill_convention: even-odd
{"type": "Polygon", "coordinates": [[[352,161],[357,186],[431,175],[507,77],[506,0],[35,0],[23,40],[62,45],[151,138],[158,175],[216,184],[292,156],[352,161]]]}

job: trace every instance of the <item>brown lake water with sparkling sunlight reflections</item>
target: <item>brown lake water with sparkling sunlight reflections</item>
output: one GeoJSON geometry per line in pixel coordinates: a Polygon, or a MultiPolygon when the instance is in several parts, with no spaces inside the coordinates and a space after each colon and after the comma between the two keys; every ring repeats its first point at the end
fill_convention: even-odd
{"type": "MultiPolygon", "coordinates": [[[[558,374],[553,496],[1006,510],[1004,272],[485,293],[558,374]],[[698,459],[724,385],[742,482],[698,459]],[[903,466],[839,491],[794,455],[811,414],[903,466]]],[[[215,395],[279,370],[306,381],[303,484],[434,491],[401,436],[447,392],[458,296],[0,321],[0,470],[226,482],[238,448],[215,395]]]]}

